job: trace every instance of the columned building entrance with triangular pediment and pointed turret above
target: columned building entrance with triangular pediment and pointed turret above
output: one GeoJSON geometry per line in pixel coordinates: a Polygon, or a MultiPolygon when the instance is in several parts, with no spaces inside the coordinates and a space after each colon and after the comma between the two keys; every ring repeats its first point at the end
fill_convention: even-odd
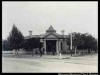
{"type": "Polygon", "coordinates": [[[54,28],[50,26],[49,29],[46,30],[46,33],[41,36],[44,47],[44,54],[53,54],[53,51],[55,52],[55,54],[59,54],[63,49],[65,49],[63,48],[66,47],[66,45],[63,45],[65,44],[63,42],[63,39],[65,39],[66,36],[63,36],[57,34],[56,30],[54,30],[54,28]]]}

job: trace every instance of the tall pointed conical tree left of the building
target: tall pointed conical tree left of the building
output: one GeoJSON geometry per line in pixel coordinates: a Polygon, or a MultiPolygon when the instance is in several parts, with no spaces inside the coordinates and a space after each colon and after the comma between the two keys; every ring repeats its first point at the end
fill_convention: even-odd
{"type": "Polygon", "coordinates": [[[20,32],[19,29],[15,25],[13,25],[12,30],[7,38],[12,49],[15,49],[15,55],[18,55],[19,49],[22,48],[22,43],[24,40],[24,36],[20,32]],[[17,52],[17,54],[16,54],[17,52]]]}

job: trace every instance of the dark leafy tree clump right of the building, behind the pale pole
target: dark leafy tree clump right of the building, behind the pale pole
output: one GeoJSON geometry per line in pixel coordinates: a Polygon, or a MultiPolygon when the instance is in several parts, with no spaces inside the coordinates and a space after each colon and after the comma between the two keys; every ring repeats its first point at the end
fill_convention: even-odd
{"type": "MultiPolygon", "coordinates": [[[[72,35],[74,35],[72,44],[75,52],[77,49],[87,49],[88,53],[91,53],[91,50],[97,51],[97,39],[95,39],[91,34],[73,32],[72,35]]],[[[67,44],[70,45],[70,37],[67,38],[67,44]]]]}

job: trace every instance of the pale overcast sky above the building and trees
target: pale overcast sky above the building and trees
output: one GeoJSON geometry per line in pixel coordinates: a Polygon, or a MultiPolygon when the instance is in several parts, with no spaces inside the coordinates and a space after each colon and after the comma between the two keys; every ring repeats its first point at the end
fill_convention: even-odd
{"type": "Polygon", "coordinates": [[[90,33],[98,37],[97,2],[2,2],[2,38],[6,39],[13,23],[23,33],[44,34],[50,25],[61,34],[90,33]]]}

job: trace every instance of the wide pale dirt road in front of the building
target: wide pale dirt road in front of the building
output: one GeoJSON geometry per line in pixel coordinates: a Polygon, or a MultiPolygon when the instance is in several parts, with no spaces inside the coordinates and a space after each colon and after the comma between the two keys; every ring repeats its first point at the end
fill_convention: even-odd
{"type": "Polygon", "coordinates": [[[37,72],[37,73],[97,73],[98,54],[70,57],[63,55],[19,55],[14,57],[12,54],[2,56],[2,72],[37,72]]]}

